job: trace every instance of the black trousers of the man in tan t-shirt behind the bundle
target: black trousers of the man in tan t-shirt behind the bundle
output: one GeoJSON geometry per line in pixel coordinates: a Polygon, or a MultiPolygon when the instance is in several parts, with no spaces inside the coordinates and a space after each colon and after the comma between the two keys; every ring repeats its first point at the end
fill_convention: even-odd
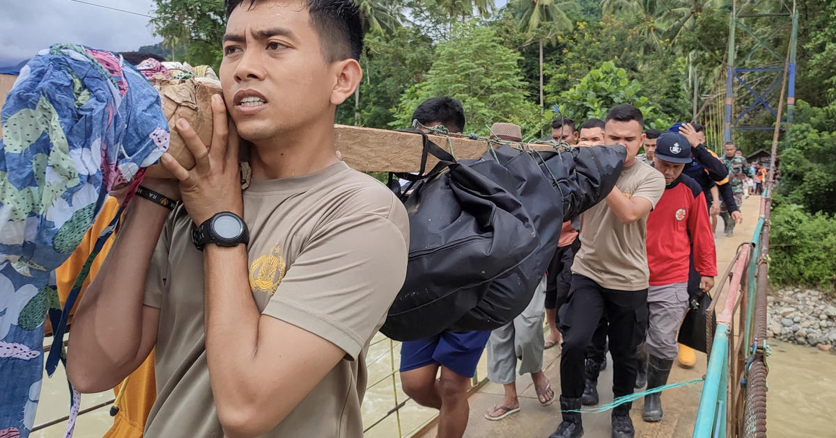
{"type": "Polygon", "coordinates": [[[645,339],[647,328],[647,289],[606,289],[584,275],[572,274],[568,301],[560,310],[560,383],[564,397],[575,399],[584,394],[584,356],[604,315],[609,321],[607,336],[613,356],[613,394],[633,394],[635,349],[645,339]]]}

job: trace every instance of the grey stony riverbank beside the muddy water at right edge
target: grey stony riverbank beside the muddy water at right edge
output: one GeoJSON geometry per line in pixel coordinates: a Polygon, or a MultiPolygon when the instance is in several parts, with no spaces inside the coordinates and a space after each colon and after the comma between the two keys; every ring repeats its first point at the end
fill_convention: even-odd
{"type": "Polygon", "coordinates": [[[836,297],[814,289],[785,288],[767,297],[767,336],[829,351],[836,348],[836,297]]]}

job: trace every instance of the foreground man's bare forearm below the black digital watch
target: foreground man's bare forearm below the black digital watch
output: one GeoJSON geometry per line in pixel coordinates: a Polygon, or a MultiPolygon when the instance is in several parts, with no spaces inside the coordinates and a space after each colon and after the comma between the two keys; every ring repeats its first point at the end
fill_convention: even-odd
{"type": "Polygon", "coordinates": [[[229,406],[247,406],[255,388],[247,370],[257,353],[260,313],[252,300],[243,245],[206,245],[203,256],[206,295],[206,360],[218,414],[229,406]]]}

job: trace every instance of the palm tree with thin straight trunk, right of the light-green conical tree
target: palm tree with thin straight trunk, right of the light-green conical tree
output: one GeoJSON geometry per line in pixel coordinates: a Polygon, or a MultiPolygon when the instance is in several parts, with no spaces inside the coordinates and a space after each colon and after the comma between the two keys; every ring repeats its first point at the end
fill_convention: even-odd
{"type": "Polygon", "coordinates": [[[543,110],[543,42],[553,43],[555,33],[572,30],[566,12],[577,10],[578,3],[561,0],[511,0],[508,2],[523,33],[537,40],[540,48],[540,110],[543,110]]]}

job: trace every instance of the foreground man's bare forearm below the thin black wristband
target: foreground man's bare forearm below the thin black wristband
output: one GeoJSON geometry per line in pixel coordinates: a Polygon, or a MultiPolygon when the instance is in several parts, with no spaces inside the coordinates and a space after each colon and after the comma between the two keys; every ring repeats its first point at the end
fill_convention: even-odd
{"type": "MultiPolygon", "coordinates": [[[[89,380],[118,383],[135,364],[143,342],[142,299],[151,254],[166,209],[137,199],[125,215],[99,274],[84,292],[69,335],[68,374],[81,387],[89,380]]],[[[147,353],[147,351],[145,351],[147,353]]]]}

